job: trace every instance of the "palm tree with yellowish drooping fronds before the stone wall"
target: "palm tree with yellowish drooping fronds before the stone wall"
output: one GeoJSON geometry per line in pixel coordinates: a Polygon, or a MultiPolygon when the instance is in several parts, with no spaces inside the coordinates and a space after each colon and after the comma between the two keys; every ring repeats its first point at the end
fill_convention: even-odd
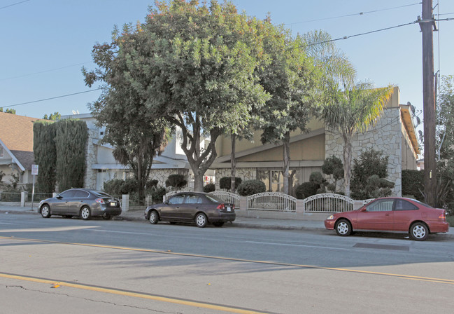
{"type": "Polygon", "coordinates": [[[350,170],[353,135],[375,124],[392,95],[392,86],[373,88],[371,83],[357,83],[346,90],[332,89],[322,106],[320,117],[327,129],[343,139],[344,192],[350,196],[350,170]]]}

